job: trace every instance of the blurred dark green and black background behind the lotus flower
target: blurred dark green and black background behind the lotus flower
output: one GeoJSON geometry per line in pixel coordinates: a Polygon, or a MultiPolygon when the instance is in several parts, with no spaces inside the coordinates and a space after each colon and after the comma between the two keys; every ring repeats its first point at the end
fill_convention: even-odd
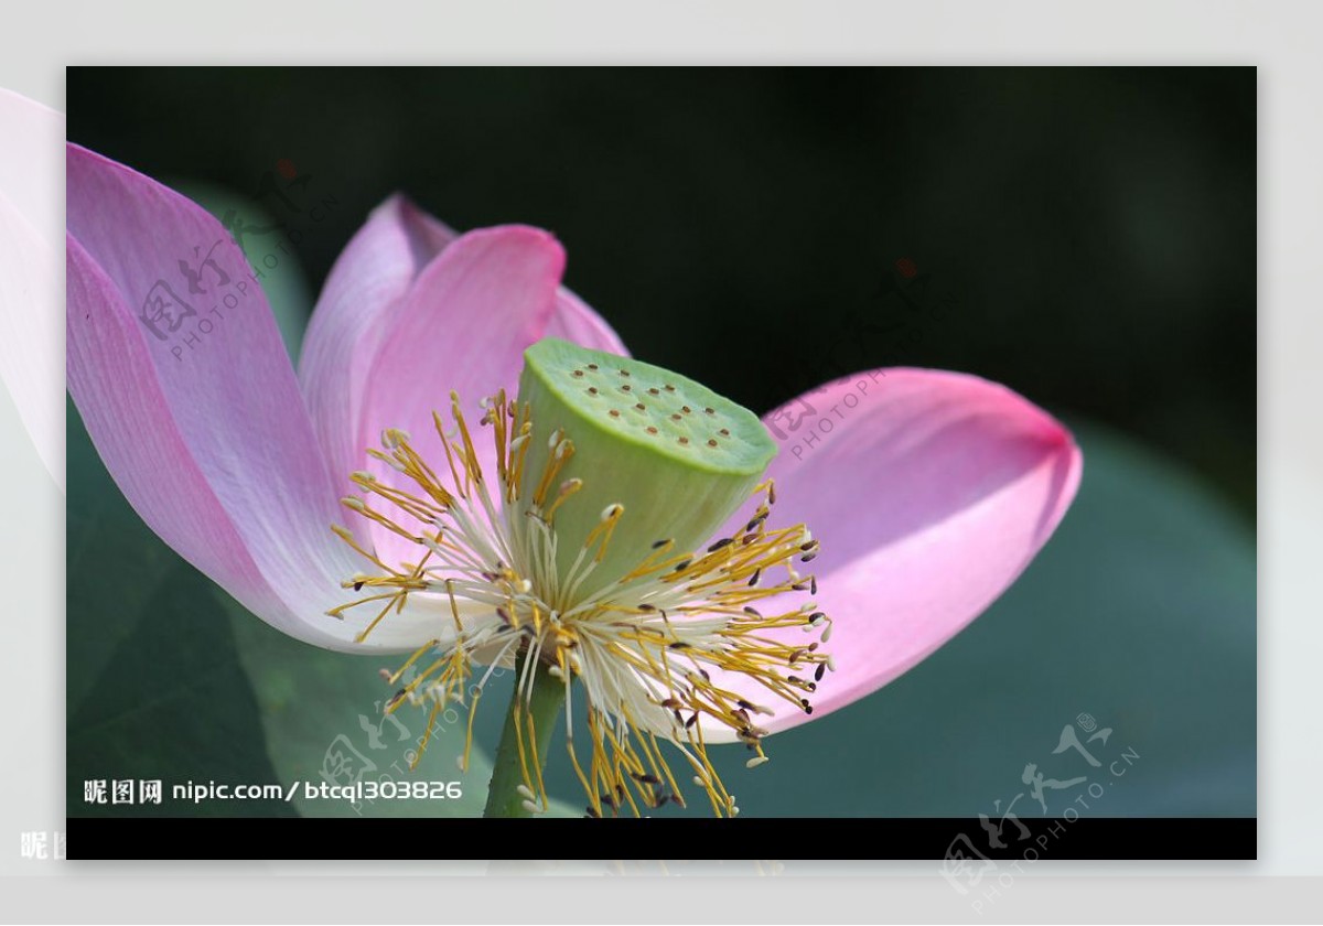
{"type": "MultiPolygon", "coordinates": [[[[1094,812],[1254,812],[1253,69],[70,69],[67,108],[74,142],[217,210],[255,208],[282,159],[333,198],[269,280],[290,332],[402,190],[459,229],[552,229],[635,355],[753,409],[904,364],[1076,427],[1084,489],[1024,579],[767,766],[728,753],[745,812],[992,814],[1027,762],[1073,774],[1050,750],[1078,712],[1143,755],[1094,812]],[[902,258],[949,312],[890,292],[902,258]]],[[[136,537],[110,552],[112,606],[70,589],[70,811],[130,765],[315,779],[376,664],[234,615],[132,530],[70,427],[70,575],[107,565],[94,512],[136,537]]]]}

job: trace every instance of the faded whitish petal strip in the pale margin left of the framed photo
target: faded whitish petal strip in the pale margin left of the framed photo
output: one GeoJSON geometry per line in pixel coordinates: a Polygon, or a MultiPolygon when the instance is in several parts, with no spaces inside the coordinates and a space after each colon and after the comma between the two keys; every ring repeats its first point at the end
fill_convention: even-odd
{"type": "Polygon", "coordinates": [[[0,89],[0,381],[56,484],[65,484],[60,360],[60,152],[65,116],[0,89]]]}

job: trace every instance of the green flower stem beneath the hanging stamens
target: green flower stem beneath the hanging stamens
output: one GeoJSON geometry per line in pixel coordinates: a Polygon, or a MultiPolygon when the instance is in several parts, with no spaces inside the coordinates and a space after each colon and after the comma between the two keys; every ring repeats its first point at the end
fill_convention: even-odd
{"type": "MultiPolygon", "coordinates": [[[[520,657],[516,671],[517,679],[524,676],[527,659],[528,653],[520,657]]],[[[525,796],[519,792],[519,786],[524,784],[524,762],[528,762],[536,792],[540,775],[534,767],[541,769],[546,765],[546,747],[556,730],[556,714],[565,700],[565,683],[548,675],[546,668],[542,664],[532,667],[533,685],[527,701],[520,696],[517,685],[511,696],[509,712],[505,714],[500,746],[496,749],[492,782],[487,791],[487,808],[483,811],[483,816],[532,816],[524,806],[525,796]],[[534,734],[532,737],[529,736],[531,721],[534,734]],[[520,737],[523,737],[524,761],[520,759],[520,737]]]]}

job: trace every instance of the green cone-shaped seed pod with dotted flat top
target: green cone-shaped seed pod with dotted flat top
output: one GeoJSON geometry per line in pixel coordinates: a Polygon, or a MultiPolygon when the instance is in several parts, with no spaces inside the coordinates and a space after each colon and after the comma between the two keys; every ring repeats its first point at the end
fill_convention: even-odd
{"type": "Polygon", "coordinates": [[[558,339],[524,352],[519,402],[528,405],[534,434],[515,529],[523,515],[545,512],[561,487],[582,480],[553,513],[556,573],[569,578],[579,564],[576,581],[560,590],[561,607],[628,574],[659,545],[680,556],[706,544],[777,455],[758,417],[710,389],[558,339]],[[561,441],[573,454],[537,505],[548,464],[566,452],[557,451],[561,441]]]}

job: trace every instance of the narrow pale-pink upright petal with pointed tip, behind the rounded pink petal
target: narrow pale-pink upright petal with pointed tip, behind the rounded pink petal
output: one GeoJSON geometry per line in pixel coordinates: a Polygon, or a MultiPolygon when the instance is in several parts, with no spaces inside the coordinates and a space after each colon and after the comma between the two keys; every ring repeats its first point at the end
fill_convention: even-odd
{"type": "Polygon", "coordinates": [[[418,274],[458,235],[402,196],[377,206],[336,259],[303,340],[299,382],[337,480],[363,467],[359,421],[382,332],[418,274]]]}

